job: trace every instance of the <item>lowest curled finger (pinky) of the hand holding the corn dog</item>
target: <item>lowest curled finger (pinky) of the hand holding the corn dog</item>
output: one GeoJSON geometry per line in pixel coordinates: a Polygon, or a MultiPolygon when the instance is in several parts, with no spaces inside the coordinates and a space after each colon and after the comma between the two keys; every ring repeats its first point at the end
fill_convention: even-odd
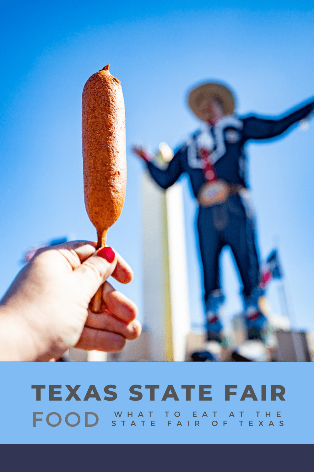
{"type": "Polygon", "coordinates": [[[85,327],[75,347],[85,351],[96,350],[110,353],[121,351],[125,343],[125,338],[117,333],[85,327]]]}

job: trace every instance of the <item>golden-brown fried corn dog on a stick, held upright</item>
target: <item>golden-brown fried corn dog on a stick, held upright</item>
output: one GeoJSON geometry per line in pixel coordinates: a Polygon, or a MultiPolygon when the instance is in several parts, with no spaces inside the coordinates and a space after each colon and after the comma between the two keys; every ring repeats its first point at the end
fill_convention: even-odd
{"type": "MultiPolygon", "coordinates": [[[[108,228],[121,214],[127,184],[123,94],[109,64],[84,85],[82,146],[85,207],[97,229],[98,249],[105,246],[108,228]]],[[[101,288],[94,297],[96,312],[101,288]]]]}

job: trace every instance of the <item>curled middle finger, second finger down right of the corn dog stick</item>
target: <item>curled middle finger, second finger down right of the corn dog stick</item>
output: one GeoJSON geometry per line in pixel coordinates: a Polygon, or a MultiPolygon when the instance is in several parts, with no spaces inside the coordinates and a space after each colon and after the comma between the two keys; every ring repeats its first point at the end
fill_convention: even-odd
{"type": "Polygon", "coordinates": [[[132,300],[129,300],[125,295],[121,294],[113,288],[109,282],[106,282],[103,287],[103,300],[106,308],[113,315],[121,320],[129,323],[137,316],[137,306],[132,300]]]}

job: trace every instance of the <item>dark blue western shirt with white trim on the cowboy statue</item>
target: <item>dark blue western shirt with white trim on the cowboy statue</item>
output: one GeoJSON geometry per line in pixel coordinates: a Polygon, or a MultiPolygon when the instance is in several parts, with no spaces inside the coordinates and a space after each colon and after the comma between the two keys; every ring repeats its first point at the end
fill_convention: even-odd
{"type": "Polygon", "coordinates": [[[167,169],[159,169],[152,162],[147,167],[156,183],[165,189],[174,184],[183,172],[187,172],[193,193],[197,197],[205,182],[198,143],[203,138],[202,133],[207,133],[207,141],[212,141],[211,159],[217,177],[230,184],[247,187],[245,143],[250,139],[271,139],[281,135],[291,125],[306,118],[313,106],[312,101],[283,118],[274,119],[226,115],[215,126],[208,127],[208,130],[195,132],[176,152],[167,169]]]}

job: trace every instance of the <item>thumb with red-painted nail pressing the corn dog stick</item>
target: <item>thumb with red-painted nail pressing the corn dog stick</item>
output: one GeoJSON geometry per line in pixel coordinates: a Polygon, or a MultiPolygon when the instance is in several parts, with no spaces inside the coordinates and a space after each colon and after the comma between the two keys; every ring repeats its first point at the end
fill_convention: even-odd
{"type": "Polygon", "coordinates": [[[106,278],[113,273],[116,265],[116,254],[111,247],[105,246],[75,269],[73,276],[76,278],[77,286],[90,300],[106,278]]]}

